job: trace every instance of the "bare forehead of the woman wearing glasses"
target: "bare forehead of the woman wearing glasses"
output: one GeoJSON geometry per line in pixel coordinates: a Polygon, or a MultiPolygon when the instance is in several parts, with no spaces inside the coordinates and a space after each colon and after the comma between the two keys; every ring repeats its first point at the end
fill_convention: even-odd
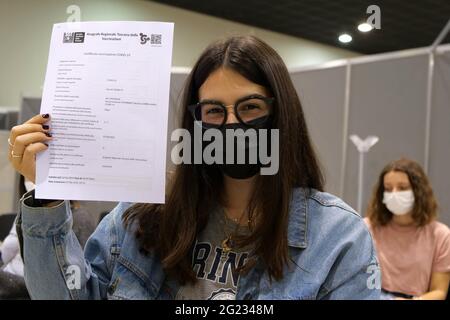
{"type": "Polygon", "coordinates": [[[251,94],[267,96],[263,86],[251,82],[238,72],[229,68],[219,68],[213,71],[199,89],[199,98],[214,99],[226,104],[251,94]]]}

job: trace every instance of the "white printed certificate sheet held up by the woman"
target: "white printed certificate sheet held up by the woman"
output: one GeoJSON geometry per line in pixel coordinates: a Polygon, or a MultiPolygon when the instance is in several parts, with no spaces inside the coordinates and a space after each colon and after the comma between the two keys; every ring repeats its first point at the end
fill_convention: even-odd
{"type": "Polygon", "coordinates": [[[36,198],[163,203],[173,24],[53,26],[36,198]]]}

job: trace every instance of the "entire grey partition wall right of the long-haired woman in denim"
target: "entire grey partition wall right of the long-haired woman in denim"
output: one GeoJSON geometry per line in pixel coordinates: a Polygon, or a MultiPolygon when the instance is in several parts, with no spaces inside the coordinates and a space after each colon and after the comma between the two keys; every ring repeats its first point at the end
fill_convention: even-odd
{"type": "Polygon", "coordinates": [[[450,45],[435,55],[427,151],[428,66],[429,51],[414,49],[292,70],[327,191],[356,208],[359,155],[349,136],[380,138],[365,155],[363,215],[389,161],[408,157],[425,167],[428,158],[440,219],[450,225],[450,45]]]}

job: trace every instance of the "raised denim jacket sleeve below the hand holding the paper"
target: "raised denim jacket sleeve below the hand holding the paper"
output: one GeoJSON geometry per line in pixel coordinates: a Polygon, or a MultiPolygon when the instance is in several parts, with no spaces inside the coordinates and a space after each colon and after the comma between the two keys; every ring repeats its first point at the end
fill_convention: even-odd
{"type": "Polygon", "coordinates": [[[123,204],[101,221],[83,252],[72,231],[70,202],[31,207],[26,205],[27,195],[20,201],[16,223],[31,298],[106,299],[118,239],[116,220],[126,209],[123,204]]]}

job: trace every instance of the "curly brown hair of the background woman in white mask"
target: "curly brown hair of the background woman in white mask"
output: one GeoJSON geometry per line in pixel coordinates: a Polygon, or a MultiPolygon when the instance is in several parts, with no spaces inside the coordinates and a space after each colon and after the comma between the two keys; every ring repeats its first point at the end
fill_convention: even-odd
{"type": "Polygon", "coordinates": [[[392,171],[408,176],[414,193],[412,218],[417,226],[424,226],[436,219],[438,205],[425,172],[417,162],[402,158],[388,163],[380,173],[367,212],[371,224],[374,227],[384,226],[392,219],[392,213],[383,203],[384,176],[392,171]]]}

